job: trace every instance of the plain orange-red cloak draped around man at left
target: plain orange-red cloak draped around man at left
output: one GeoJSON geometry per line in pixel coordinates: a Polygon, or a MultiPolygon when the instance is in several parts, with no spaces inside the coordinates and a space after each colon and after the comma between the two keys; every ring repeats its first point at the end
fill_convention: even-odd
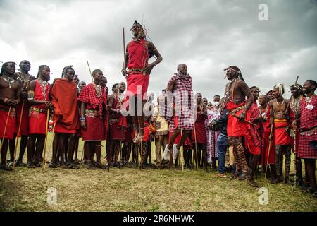
{"type": "Polygon", "coordinates": [[[77,85],[66,78],[57,79],[51,88],[54,106],[54,123],[59,122],[69,130],[80,129],[77,105],[77,85]]]}

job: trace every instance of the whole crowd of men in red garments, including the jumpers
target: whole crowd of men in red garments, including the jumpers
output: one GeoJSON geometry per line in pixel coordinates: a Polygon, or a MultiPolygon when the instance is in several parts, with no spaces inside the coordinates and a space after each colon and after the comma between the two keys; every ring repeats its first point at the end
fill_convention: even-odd
{"type": "Polygon", "coordinates": [[[14,62],[2,65],[0,169],[43,167],[52,119],[51,168],[79,169],[82,163],[88,169],[125,165],[172,169],[175,163],[176,168],[218,170],[216,177],[227,177],[226,171],[230,171],[230,179],[246,179],[248,184],[258,187],[259,165],[272,184],[291,184],[293,152],[294,183],[317,196],[316,81],[294,83],[290,86],[292,97],[287,100],[283,97],[284,85],[274,85],[273,90],[260,95],[258,87],[249,88],[244,82],[237,66],[229,66],[225,69],[225,95],[215,95],[212,104],[201,93],[193,95],[192,77],[187,66],[179,64],[154,105],[154,94],[147,95],[149,74],[162,57],[145,38],[142,25],[135,21],[131,31],[133,40],[127,45],[121,71],[126,83],[114,84],[112,93],[100,69],[92,71],[93,81],[86,85],[73,66],[66,66],[61,78],[49,83],[49,66],[39,66],[35,78],[29,74],[29,61],[20,62],[18,73],[14,62]],[[156,60],[148,64],[152,56],[156,60]],[[85,143],[79,160],[80,137],[85,143]],[[19,139],[20,150],[15,157],[19,139]],[[104,140],[106,165],[101,159],[104,140]],[[155,164],[151,162],[152,142],[156,147],[155,164]],[[6,161],[8,150],[10,160],[6,161]],[[226,154],[230,167],[225,166],[226,154]]]}

